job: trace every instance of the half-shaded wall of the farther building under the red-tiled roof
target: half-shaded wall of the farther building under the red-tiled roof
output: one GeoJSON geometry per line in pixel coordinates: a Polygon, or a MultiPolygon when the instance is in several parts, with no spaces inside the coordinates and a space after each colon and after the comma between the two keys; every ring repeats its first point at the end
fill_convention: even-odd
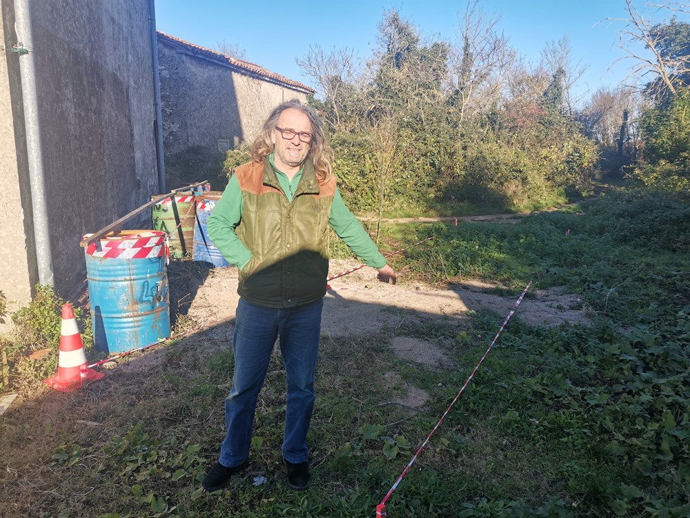
{"type": "Polygon", "coordinates": [[[270,111],[306,94],[200,57],[183,45],[158,40],[166,163],[195,146],[218,149],[251,142],[270,111]]]}

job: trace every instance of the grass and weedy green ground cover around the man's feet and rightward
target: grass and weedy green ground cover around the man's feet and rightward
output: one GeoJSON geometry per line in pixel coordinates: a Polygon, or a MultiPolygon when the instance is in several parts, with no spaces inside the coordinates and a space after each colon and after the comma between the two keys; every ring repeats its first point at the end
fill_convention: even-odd
{"type": "MultiPolygon", "coordinates": [[[[690,258],[674,249],[685,227],[657,213],[653,228],[638,215],[625,232],[622,207],[633,202],[622,195],[514,225],[419,228],[419,238],[436,237],[400,259],[406,276],[497,280],[506,296],[528,280],[566,286],[593,324],[533,327],[518,311],[388,501],[388,516],[690,513],[690,258]]],[[[280,464],[278,356],[259,399],[250,469],[228,490],[200,490],[224,434],[233,356],[222,326],[181,338],[159,351],[163,361],[132,362],[68,398],[47,392],[0,418],[0,515],[371,517],[502,318],[477,312],[461,328],[402,323],[366,338],[325,337],[306,492],[286,488],[280,464]],[[396,334],[433,340],[455,367],[395,358],[396,334]],[[424,408],[394,403],[406,386],[428,394],[424,408]]]]}

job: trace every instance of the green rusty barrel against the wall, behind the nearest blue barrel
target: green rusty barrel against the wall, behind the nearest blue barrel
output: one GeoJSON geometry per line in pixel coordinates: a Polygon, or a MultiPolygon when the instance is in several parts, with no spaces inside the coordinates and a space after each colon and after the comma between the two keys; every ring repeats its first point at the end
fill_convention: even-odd
{"type": "MultiPolygon", "coordinates": [[[[151,200],[160,198],[152,196],[151,200]]],[[[152,209],[153,228],[168,235],[170,256],[181,258],[191,253],[194,240],[195,199],[191,191],[161,200],[152,209]]]]}

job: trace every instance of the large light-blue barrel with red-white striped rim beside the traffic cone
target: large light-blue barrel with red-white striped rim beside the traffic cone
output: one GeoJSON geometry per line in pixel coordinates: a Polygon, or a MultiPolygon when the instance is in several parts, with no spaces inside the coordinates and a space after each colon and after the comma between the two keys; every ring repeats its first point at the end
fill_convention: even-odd
{"type": "Polygon", "coordinates": [[[128,352],[170,336],[167,260],[163,231],[111,233],[86,247],[91,324],[99,351],[128,352]]]}

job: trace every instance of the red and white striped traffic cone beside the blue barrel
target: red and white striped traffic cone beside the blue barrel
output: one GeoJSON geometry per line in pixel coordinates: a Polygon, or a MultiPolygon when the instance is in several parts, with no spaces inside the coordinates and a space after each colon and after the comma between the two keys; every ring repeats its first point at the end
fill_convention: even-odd
{"type": "Polygon", "coordinates": [[[105,374],[88,367],[75,311],[70,303],[63,305],[57,375],[44,380],[43,383],[61,392],[71,392],[82,387],[84,383],[97,381],[103,376],[105,374]]]}

